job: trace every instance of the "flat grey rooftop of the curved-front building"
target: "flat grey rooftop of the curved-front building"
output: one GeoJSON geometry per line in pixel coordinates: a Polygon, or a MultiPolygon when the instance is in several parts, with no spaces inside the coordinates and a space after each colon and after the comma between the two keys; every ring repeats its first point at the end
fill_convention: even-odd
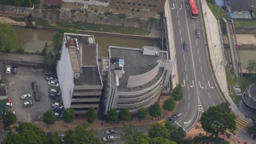
{"type": "MultiPolygon", "coordinates": [[[[149,49],[147,48],[147,50],[149,49]]],[[[150,50],[159,51],[159,49],[155,48],[150,50]]],[[[159,51],[159,54],[154,56],[150,55],[150,53],[149,55],[144,55],[143,53],[143,49],[109,46],[110,57],[124,59],[124,73],[122,78],[119,79],[119,83],[117,83],[117,85],[119,84],[117,91],[131,92],[149,88],[163,75],[164,68],[157,66],[161,59],[168,59],[167,52],[159,51]],[[149,80],[150,77],[152,80],[149,80]]],[[[116,85],[115,67],[120,67],[120,64],[111,63],[109,67],[110,85],[112,87],[116,85]]]]}

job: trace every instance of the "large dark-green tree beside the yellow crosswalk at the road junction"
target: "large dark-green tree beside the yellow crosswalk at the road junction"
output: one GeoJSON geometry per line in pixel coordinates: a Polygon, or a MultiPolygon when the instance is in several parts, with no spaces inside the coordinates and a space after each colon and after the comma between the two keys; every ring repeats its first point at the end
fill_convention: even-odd
{"type": "Polygon", "coordinates": [[[233,132],[236,129],[235,115],[230,113],[230,111],[231,109],[227,103],[209,107],[200,118],[202,128],[207,133],[215,135],[216,138],[219,134],[224,134],[226,130],[233,132]]]}

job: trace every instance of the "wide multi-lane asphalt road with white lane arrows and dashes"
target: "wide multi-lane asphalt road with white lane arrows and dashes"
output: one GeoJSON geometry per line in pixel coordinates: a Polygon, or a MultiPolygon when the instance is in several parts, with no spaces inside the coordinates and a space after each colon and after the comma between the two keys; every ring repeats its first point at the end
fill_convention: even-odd
{"type": "MultiPolygon", "coordinates": [[[[195,2],[200,10],[198,1],[195,2]]],[[[200,111],[220,104],[222,99],[210,72],[200,11],[198,18],[192,19],[187,0],[171,0],[170,7],[179,83],[184,92],[176,109],[179,118],[175,122],[188,131],[197,122],[200,111]],[[196,29],[201,32],[200,38],[195,35],[196,29]],[[183,42],[188,45],[188,51],[183,50],[183,42]]]]}

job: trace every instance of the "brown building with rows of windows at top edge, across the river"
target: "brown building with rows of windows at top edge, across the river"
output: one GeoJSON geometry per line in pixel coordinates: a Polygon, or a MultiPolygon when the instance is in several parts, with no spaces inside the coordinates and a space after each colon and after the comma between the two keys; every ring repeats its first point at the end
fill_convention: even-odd
{"type": "Polygon", "coordinates": [[[163,12],[165,0],[111,0],[109,11],[136,16],[157,16],[163,12]]]}

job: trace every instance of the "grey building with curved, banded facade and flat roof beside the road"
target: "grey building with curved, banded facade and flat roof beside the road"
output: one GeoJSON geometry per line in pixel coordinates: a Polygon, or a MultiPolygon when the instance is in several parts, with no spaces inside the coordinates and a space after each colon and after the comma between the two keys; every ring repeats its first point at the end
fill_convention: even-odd
{"type": "Polygon", "coordinates": [[[167,51],[109,46],[104,113],[116,108],[136,113],[154,104],[162,89],[170,90],[172,62],[167,51]]]}

